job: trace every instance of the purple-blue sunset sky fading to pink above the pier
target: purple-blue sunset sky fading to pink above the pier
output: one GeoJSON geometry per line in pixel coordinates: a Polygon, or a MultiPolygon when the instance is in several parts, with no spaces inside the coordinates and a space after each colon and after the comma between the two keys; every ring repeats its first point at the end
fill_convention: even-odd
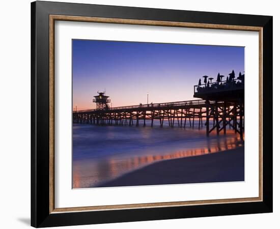
{"type": "Polygon", "coordinates": [[[184,101],[204,75],[243,74],[244,47],[73,40],[72,68],[78,110],[105,89],[114,107],[184,101]]]}

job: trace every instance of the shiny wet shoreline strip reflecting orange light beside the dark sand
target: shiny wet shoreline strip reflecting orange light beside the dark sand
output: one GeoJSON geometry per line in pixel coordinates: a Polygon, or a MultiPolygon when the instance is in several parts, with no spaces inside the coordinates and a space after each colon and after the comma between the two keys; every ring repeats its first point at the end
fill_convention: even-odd
{"type": "MultiPolygon", "coordinates": [[[[148,151],[145,155],[112,155],[103,159],[90,158],[73,161],[73,188],[96,187],[101,182],[115,179],[129,171],[161,160],[192,157],[241,147],[240,137],[216,138],[208,140],[206,146],[197,149],[178,150],[162,153],[148,151]]],[[[227,153],[227,152],[225,152],[227,153]]]]}

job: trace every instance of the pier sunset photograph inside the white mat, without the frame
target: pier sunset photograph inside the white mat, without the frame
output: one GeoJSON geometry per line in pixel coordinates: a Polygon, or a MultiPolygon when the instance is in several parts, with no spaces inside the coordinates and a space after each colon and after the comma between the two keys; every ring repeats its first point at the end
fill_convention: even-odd
{"type": "Polygon", "coordinates": [[[242,46],[72,39],[72,188],[244,182],[244,68],[242,46]]]}

